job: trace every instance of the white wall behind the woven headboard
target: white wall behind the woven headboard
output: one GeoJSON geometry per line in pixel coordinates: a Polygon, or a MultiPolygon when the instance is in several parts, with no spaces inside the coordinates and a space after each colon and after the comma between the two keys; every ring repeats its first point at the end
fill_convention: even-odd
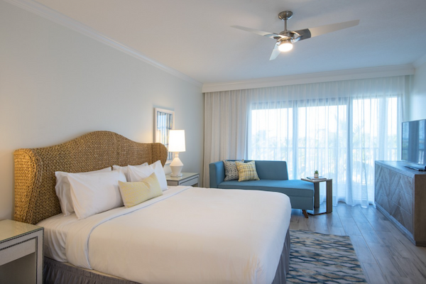
{"type": "Polygon", "coordinates": [[[153,109],[185,129],[183,170],[202,173],[201,87],[0,1],[0,219],[13,214],[13,151],[107,130],[153,142],[153,109]]]}

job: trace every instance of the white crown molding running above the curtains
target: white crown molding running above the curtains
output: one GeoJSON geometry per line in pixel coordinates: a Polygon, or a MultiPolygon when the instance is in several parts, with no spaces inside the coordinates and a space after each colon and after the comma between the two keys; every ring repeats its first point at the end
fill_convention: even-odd
{"type": "Polygon", "coordinates": [[[234,82],[221,82],[203,84],[202,92],[221,92],[236,89],[256,89],[263,87],[278,87],[290,84],[310,84],[320,82],[333,82],[343,80],[368,79],[378,77],[392,77],[402,75],[413,75],[415,68],[412,64],[393,65],[382,67],[369,67],[351,70],[339,70],[331,72],[317,72],[302,75],[288,75],[282,77],[269,77],[253,80],[242,80],[234,82]]]}

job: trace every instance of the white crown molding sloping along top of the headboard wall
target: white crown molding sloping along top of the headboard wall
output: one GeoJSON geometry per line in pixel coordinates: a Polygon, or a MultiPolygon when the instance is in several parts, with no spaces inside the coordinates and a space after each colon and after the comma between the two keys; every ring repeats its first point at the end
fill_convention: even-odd
{"type": "Polygon", "coordinates": [[[58,23],[62,26],[65,26],[66,28],[70,28],[73,31],[77,31],[78,33],[87,35],[89,38],[93,38],[94,40],[97,40],[101,43],[109,45],[112,48],[115,48],[116,50],[120,50],[123,53],[131,55],[133,56],[133,58],[146,62],[149,65],[152,65],[154,67],[157,67],[160,70],[163,70],[164,72],[168,72],[170,75],[173,75],[182,80],[190,82],[191,84],[197,87],[202,87],[202,83],[198,82],[192,77],[189,77],[183,74],[182,72],[173,69],[172,67],[163,65],[157,60],[150,58],[148,55],[144,55],[143,53],[140,53],[138,50],[129,48],[129,46],[119,43],[116,40],[109,38],[107,35],[99,33],[99,31],[96,31],[93,28],[90,28],[89,26],[86,26],[83,23],[80,23],[79,21],[75,21],[74,19],[68,16],[65,16],[62,13],[59,13],[58,11],[50,9],[47,6],[44,6],[43,4],[40,4],[33,0],[3,0],[3,1],[9,4],[12,4],[14,6],[17,6],[21,9],[24,9],[26,11],[29,11],[31,13],[35,13],[36,15],[46,18],[49,21],[58,23]]]}

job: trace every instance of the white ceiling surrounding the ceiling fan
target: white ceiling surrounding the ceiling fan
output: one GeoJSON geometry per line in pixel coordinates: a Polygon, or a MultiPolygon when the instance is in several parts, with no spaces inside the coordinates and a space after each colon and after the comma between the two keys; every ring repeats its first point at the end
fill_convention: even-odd
{"type": "Polygon", "coordinates": [[[202,83],[405,65],[426,54],[425,0],[38,0],[202,83]],[[279,33],[359,19],[269,61],[279,33]]]}

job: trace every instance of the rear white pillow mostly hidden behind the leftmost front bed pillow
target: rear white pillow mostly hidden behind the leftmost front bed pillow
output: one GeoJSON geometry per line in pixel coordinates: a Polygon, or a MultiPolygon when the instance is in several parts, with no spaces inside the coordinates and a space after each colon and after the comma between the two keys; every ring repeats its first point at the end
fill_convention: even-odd
{"type": "MultiPolygon", "coordinates": [[[[111,167],[104,168],[102,170],[94,170],[92,172],[81,173],[84,175],[92,173],[105,173],[111,172],[111,167]]],[[[59,199],[60,209],[64,216],[70,215],[74,212],[74,206],[72,205],[71,192],[70,192],[70,182],[68,181],[68,174],[65,172],[55,172],[56,185],[55,191],[59,199]]]]}

